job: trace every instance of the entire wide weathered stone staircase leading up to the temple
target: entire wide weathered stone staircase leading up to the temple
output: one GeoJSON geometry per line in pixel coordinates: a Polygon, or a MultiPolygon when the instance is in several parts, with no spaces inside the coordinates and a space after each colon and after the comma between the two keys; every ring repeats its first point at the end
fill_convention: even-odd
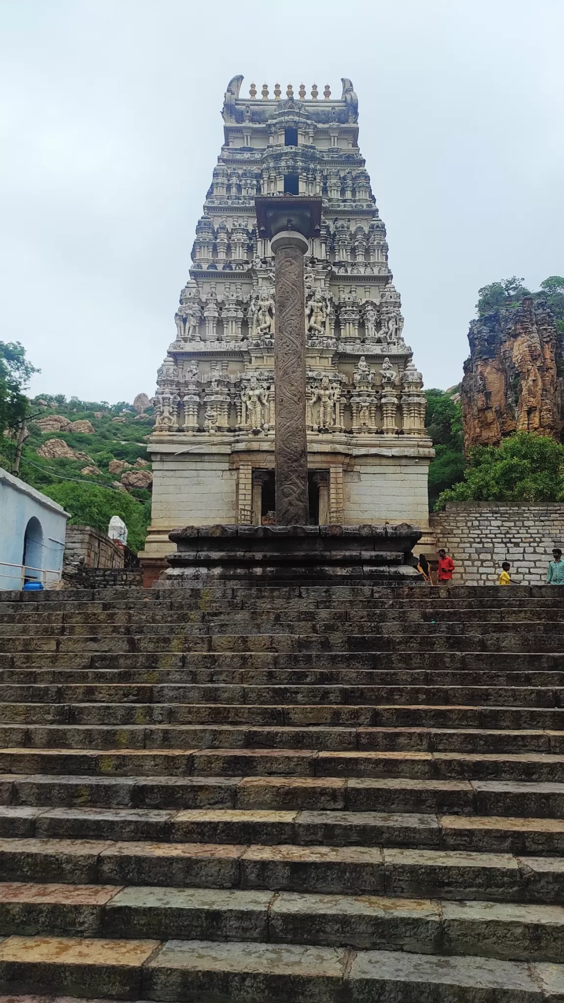
{"type": "Polygon", "coordinates": [[[0,599],[4,998],[564,1000],[564,590],[0,599]]]}

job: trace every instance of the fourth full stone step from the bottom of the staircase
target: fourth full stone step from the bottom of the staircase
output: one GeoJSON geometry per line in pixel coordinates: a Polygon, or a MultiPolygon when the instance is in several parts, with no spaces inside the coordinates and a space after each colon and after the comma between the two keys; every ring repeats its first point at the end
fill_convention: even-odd
{"type": "Polygon", "coordinates": [[[564,820],[408,812],[257,808],[0,806],[0,832],[53,840],[146,840],[272,846],[408,847],[557,856],[564,820]]]}

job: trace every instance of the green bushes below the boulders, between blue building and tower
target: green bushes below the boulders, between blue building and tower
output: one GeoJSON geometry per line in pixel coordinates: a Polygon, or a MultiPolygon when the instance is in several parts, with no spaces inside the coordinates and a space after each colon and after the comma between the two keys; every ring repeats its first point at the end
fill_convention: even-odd
{"type": "Polygon", "coordinates": [[[119,516],[127,527],[127,546],[135,552],[142,550],[151,521],[151,501],[137,501],[124,491],[87,481],[48,484],[41,489],[70,514],[74,525],[93,526],[105,534],[111,517],[119,516]]]}

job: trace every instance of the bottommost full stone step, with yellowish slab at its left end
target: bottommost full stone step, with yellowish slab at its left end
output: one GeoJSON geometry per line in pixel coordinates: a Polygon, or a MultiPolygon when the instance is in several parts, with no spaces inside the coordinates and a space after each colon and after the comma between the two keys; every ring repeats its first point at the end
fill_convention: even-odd
{"type": "MultiPolygon", "coordinates": [[[[181,1001],[191,993],[232,1003],[381,1003],[456,999],[541,1003],[564,991],[562,966],[484,957],[210,941],[104,941],[8,937],[0,991],[181,1001]],[[343,993],[345,997],[343,997],[343,993]],[[400,993],[401,995],[398,995],[400,993]]],[[[561,997],[560,997],[561,998],[561,997]]]]}

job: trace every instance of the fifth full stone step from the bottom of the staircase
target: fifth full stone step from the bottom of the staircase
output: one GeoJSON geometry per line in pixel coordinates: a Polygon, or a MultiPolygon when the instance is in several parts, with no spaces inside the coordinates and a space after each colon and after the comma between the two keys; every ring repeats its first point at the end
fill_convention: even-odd
{"type": "Polygon", "coordinates": [[[0,804],[346,810],[564,818],[564,783],[408,777],[0,774],[0,804]]]}

